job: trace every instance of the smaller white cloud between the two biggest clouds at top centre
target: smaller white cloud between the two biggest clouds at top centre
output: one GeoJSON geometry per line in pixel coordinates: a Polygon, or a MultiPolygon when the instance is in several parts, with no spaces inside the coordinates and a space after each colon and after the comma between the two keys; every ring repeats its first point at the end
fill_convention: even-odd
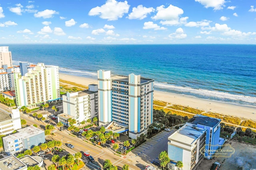
{"type": "Polygon", "coordinates": [[[138,5],[137,8],[136,7],[132,8],[132,13],[130,13],[127,18],[130,20],[132,19],[142,20],[147,17],[147,14],[150,14],[150,12],[154,12],[154,11],[155,9],[152,7],[146,8],[142,5],[138,5]]]}

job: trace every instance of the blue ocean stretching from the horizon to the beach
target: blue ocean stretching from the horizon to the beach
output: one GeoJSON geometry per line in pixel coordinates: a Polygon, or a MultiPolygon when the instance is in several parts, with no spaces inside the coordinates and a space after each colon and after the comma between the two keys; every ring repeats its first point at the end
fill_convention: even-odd
{"type": "Polygon", "coordinates": [[[19,61],[57,65],[60,73],[97,78],[97,70],[155,80],[158,91],[256,106],[256,45],[10,44],[19,61]]]}

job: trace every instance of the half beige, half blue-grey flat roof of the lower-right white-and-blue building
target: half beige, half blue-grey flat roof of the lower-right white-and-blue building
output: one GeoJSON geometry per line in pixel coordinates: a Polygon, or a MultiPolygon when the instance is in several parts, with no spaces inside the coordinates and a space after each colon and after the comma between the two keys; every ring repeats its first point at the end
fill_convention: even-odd
{"type": "Polygon", "coordinates": [[[188,124],[185,124],[183,127],[178,129],[176,132],[171,134],[171,136],[168,137],[169,140],[175,140],[182,142],[184,144],[193,144],[201,134],[203,134],[206,131],[206,129],[193,127],[188,124]]]}

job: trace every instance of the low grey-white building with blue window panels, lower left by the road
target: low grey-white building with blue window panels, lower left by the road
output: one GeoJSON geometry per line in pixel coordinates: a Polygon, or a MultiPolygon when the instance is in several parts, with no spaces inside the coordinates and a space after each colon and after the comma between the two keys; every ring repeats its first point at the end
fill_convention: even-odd
{"type": "Polygon", "coordinates": [[[9,155],[22,152],[45,142],[44,130],[34,126],[22,128],[17,131],[17,133],[2,138],[4,151],[9,155]]]}

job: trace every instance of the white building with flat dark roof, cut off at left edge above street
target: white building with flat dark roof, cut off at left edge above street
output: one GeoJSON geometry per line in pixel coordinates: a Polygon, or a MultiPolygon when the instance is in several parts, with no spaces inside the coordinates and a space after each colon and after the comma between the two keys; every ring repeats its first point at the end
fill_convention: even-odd
{"type": "Polygon", "coordinates": [[[2,110],[0,117],[0,135],[10,134],[21,128],[19,109],[12,110],[12,113],[2,110]]]}

